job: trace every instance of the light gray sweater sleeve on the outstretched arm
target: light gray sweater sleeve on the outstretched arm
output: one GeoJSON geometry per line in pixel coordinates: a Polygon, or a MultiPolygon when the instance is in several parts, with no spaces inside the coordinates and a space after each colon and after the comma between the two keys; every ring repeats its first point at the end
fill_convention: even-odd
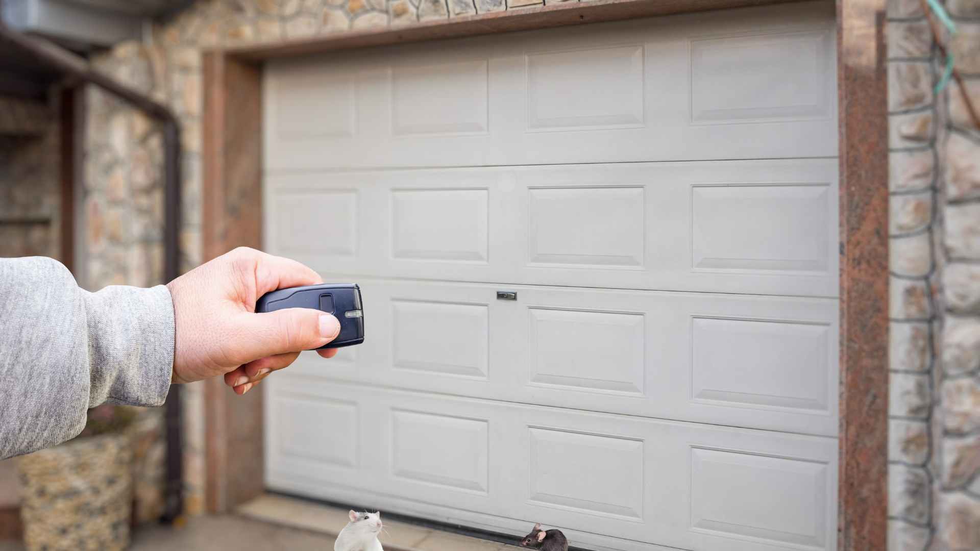
{"type": "Polygon", "coordinates": [[[0,259],[0,459],[73,438],[103,402],[162,405],[173,331],[164,285],[90,293],[52,259],[0,259]]]}

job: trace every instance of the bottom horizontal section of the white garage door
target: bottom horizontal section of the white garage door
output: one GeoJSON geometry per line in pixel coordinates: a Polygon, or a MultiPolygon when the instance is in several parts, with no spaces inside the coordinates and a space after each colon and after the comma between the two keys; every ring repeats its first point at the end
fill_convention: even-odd
{"type": "MultiPolygon", "coordinates": [[[[523,527],[508,519],[534,519],[569,533],[592,532],[577,541],[617,549],[627,546],[598,534],[719,550],[827,549],[833,541],[833,438],[312,381],[287,372],[268,388],[271,400],[305,392],[373,412],[363,416],[362,432],[374,442],[375,463],[361,475],[270,468],[273,488],[302,487],[343,500],[357,476],[359,502],[373,505],[366,496],[379,496],[386,511],[435,504],[452,508],[433,516],[449,522],[478,511],[480,526],[511,533],[523,527]]],[[[325,437],[335,426],[319,430],[325,437]]]]}

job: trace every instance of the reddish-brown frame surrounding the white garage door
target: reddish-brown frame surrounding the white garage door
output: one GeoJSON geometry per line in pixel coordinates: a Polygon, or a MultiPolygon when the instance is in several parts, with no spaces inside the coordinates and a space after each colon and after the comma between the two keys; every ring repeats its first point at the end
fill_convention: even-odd
{"type": "MultiPolygon", "coordinates": [[[[210,50],[204,56],[203,252],[262,246],[262,63],[269,59],[581,25],[782,0],[593,0],[406,27],[210,50]]],[[[888,435],[888,120],[885,0],[837,0],[840,134],[838,548],[884,549],[888,435]]],[[[264,491],[263,399],[208,381],[207,505],[264,491]]]]}

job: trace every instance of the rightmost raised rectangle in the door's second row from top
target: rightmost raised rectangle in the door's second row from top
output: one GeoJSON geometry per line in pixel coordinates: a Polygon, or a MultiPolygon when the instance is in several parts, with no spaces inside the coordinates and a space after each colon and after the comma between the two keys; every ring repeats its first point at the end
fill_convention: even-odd
{"type": "Polygon", "coordinates": [[[695,269],[826,272],[828,184],[730,184],[691,188],[695,269]]]}

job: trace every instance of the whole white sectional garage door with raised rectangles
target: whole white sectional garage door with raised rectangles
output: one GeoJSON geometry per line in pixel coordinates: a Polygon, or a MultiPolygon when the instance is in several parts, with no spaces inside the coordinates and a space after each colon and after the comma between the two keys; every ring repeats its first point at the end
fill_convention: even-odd
{"type": "Polygon", "coordinates": [[[595,549],[833,548],[833,17],[270,64],[267,248],[361,283],[367,340],[270,378],[269,486],[595,549]]]}

